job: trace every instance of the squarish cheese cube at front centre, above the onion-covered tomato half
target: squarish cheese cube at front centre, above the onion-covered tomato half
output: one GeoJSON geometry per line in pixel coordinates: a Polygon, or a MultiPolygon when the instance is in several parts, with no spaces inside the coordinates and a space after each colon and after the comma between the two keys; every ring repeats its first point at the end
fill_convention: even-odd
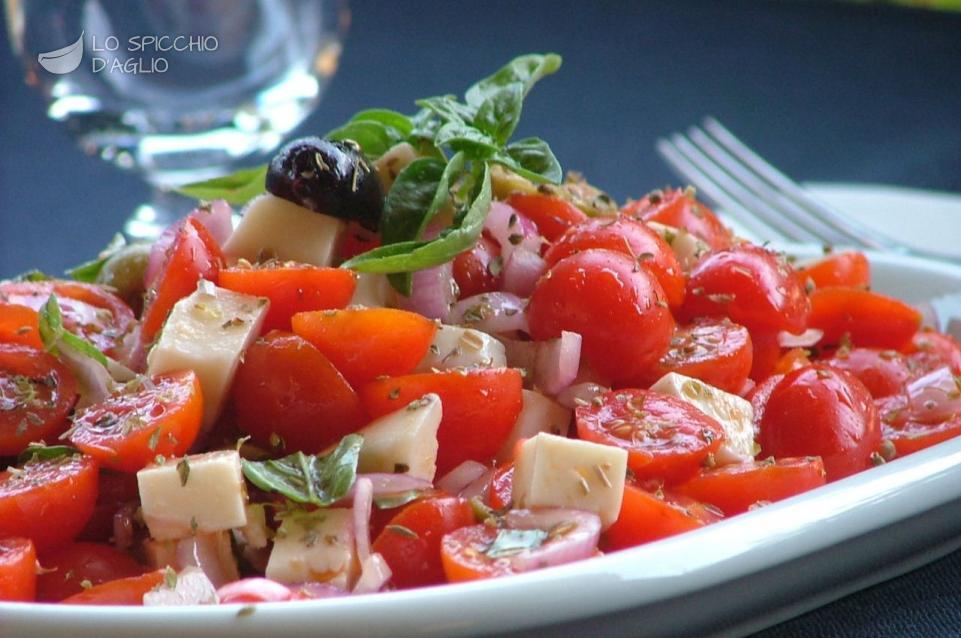
{"type": "Polygon", "coordinates": [[[626,474],[626,450],[542,432],[514,461],[514,504],[593,512],[606,529],[620,512],[626,474]]]}

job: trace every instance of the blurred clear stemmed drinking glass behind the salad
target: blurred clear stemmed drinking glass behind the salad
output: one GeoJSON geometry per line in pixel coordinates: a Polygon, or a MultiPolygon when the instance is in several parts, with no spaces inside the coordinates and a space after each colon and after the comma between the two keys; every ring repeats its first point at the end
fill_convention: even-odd
{"type": "Polygon", "coordinates": [[[47,115],[153,186],[133,238],[185,212],[174,187],[279,146],[317,106],[349,23],[331,0],[6,0],[6,13],[47,115]]]}

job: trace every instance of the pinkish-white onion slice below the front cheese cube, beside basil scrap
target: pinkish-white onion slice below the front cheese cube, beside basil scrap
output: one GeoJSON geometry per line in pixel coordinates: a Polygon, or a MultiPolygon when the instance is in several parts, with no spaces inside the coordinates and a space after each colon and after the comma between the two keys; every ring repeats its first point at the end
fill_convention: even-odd
{"type": "Polygon", "coordinates": [[[511,567],[519,572],[588,558],[597,550],[601,535],[597,514],[580,510],[511,510],[505,520],[511,529],[540,529],[549,534],[540,547],[511,557],[511,567]]]}

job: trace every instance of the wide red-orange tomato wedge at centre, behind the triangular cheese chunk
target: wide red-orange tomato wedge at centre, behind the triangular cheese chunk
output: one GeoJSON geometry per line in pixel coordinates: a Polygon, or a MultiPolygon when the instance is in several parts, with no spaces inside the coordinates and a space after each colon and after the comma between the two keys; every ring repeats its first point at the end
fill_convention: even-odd
{"type": "Polygon", "coordinates": [[[520,372],[513,368],[448,370],[374,381],[361,391],[372,417],[436,393],[443,405],[437,432],[437,476],[464,461],[489,463],[514,428],[523,404],[520,372]]]}

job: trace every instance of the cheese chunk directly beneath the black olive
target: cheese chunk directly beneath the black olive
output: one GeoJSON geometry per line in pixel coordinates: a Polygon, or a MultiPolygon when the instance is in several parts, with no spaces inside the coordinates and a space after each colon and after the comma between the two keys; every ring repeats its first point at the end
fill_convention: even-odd
{"type": "Polygon", "coordinates": [[[252,200],[224,244],[224,255],[250,262],[279,259],[330,266],[347,224],[265,193],[252,200]]]}

